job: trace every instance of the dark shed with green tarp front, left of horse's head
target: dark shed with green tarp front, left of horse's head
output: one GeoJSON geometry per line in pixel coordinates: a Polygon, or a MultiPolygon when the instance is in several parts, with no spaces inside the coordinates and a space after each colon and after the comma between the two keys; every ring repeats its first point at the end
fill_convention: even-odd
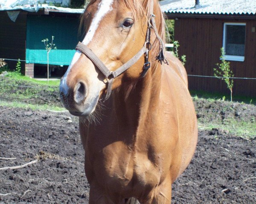
{"type": "Polygon", "coordinates": [[[79,42],[79,17],[84,9],[48,5],[15,6],[0,10],[0,58],[15,68],[22,62],[23,74],[34,77],[47,72],[47,51],[41,42],[52,39],[57,46],[49,53],[50,70],[62,76],[79,42]]]}

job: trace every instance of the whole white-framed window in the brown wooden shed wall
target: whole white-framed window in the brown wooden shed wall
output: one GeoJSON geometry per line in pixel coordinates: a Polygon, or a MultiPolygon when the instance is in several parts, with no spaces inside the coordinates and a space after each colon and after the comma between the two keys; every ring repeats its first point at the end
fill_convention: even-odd
{"type": "Polygon", "coordinates": [[[225,59],[244,61],[245,23],[224,23],[223,47],[225,59]]]}

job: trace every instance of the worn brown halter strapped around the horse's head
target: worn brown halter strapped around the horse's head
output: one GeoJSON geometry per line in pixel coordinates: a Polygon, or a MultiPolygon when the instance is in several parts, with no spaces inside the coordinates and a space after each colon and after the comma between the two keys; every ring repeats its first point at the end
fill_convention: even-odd
{"type": "Polygon", "coordinates": [[[152,47],[152,45],[150,43],[151,28],[154,30],[157,40],[160,43],[160,52],[156,58],[158,59],[158,61],[160,63],[162,63],[162,61],[163,61],[164,63],[169,64],[163,55],[164,43],[158,34],[154,17],[155,17],[155,15],[153,14],[153,6],[151,6],[151,15],[148,20],[146,40],[145,40],[143,47],[140,49],[140,51],[137,52],[137,54],[134,55],[134,57],[132,57],[128,62],[123,64],[121,67],[117,68],[115,71],[109,71],[109,69],[104,65],[104,63],[99,59],[99,57],[97,57],[96,54],[94,54],[93,51],[90,48],[88,48],[86,45],[84,45],[83,43],[79,42],[78,45],[76,45],[76,50],[79,50],[84,55],[86,55],[93,62],[93,64],[96,65],[97,68],[99,68],[99,70],[105,76],[106,81],[107,81],[106,82],[107,93],[105,94],[104,101],[107,100],[111,94],[113,79],[115,79],[120,74],[125,72],[128,68],[130,68],[132,65],[134,65],[140,59],[140,57],[142,57],[143,54],[145,54],[145,61],[144,61],[143,73],[142,73],[141,77],[144,77],[145,74],[147,73],[148,69],[150,68],[150,62],[148,61],[148,55],[149,55],[149,51],[151,50],[151,47],[152,47]]]}

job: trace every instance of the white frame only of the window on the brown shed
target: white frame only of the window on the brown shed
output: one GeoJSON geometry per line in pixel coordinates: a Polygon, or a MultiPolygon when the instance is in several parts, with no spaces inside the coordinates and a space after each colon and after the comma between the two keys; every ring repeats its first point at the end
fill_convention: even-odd
{"type": "MultiPolygon", "coordinates": [[[[223,26],[223,44],[222,47],[224,48],[224,52],[226,53],[226,26],[245,26],[245,35],[244,35],[244,49],[245,49],[245,42],[246,42],[246,23],[224,23],[223,26]]],[[[244,50],[244,54],[245,54],[245,50],[244,50]]],[[[225,60],[229,60],[229,61],[238,61],[238,62],[244,62],[244,56],[237,56],[237,55],[224,55],[225,60]]]]}

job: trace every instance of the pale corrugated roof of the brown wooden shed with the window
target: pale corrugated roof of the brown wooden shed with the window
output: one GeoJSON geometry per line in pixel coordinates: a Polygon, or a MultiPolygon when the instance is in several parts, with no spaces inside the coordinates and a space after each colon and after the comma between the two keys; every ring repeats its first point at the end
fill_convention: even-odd
{"type": "Polygon", "coordinates": [[[163,0],[161,9],[166,13],[183,14],[256,14],[256,0],[163,0]]]}

